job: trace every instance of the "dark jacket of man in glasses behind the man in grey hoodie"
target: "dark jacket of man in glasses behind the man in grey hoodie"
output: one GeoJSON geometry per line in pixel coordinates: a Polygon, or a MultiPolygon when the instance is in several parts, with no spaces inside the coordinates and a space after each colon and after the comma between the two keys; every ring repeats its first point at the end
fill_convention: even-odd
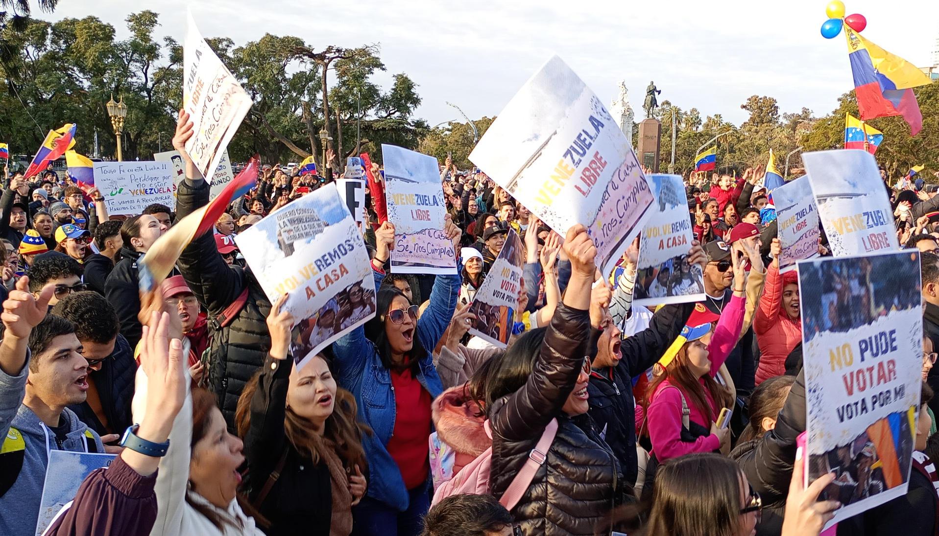
{"type": "Polygon", "coordinates": [[[137,361],[133,359],[133,348],[119,333],[115,340],[115,349],[107,360],[101,362],[100,371],[90,371],[89,379],[95,382],[95,389],[101,401],[101,408],[108,420],[105,427],[98,416],[95,415],[87,401],[69,409],[78,415],[78,418],[98,433],[122,434],[133,424],[131,417],[131,400],[133,400],[134,375],[137,374],[137,361]]]}

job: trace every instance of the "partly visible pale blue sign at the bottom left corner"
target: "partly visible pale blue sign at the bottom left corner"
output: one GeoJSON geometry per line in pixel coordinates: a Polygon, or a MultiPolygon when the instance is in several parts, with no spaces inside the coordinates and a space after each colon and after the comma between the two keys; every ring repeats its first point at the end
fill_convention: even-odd
{"type": "Polygon", "coordinates": [[[108,467],[115,454],[94,452],[49,451],[46,481],[39,499],[39,517],[36,536],[42,534],[55,519],[55,514],[75,498],[78,488],[88,474],[100,467],[108,467]]]}

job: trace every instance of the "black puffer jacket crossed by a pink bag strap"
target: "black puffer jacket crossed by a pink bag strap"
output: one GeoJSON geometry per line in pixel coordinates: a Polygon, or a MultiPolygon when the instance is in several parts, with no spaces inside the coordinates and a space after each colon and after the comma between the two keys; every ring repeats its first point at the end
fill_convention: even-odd
{"type": "Polygon", "coordinates": [[[558,433],[512,514],[524,534],[593,534],[621,498],[616,457],[593,431],[588,415],[562,413],[577,383],[590,334],[587,311],[559,305],[527,383],[495,402],[492,426],[492,493],[500,498],[525,465],[552,418],[558,433]]]}

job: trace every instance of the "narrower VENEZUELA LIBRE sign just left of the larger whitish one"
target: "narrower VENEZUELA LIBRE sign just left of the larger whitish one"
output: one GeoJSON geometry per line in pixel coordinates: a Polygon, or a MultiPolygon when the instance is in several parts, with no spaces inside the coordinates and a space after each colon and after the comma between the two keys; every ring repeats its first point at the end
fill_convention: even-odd
{"type": "Polygon", "coordinates": [[[795,263],[819,256],[819,213],[807,176],[800,176],[773,191],[779,235],[779,273],[795,263]]]}

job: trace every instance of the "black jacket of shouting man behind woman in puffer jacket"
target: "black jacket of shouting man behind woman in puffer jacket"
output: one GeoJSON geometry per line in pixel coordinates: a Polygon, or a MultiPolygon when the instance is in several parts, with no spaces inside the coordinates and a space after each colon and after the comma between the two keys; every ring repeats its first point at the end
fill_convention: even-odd
{"type": "Polygon", "coordinates": [[[694,305],[682,303],[659,309],[648,329],[623,339],[620,346],[623,359],[619,364],[593,370],[587,384],[593,425],[616,454],[626,484],[634,485],[639,471],[633,377],[642,374],[662,356],[685,327],[694,305]]]}

